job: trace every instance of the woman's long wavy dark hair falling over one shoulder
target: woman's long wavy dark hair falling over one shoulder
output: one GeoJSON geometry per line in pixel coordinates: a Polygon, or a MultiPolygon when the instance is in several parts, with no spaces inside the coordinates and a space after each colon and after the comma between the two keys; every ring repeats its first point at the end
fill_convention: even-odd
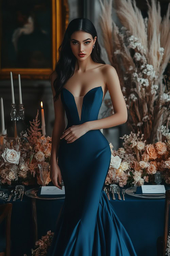
{"type": "MultiPolygon", "coordinates": [[[[65,31],[63,41],[58,48],[59,58],[55,65],[55,71],[57,74],[54,80],[54,89],[56,95],[53,97],[54,101],[58,99],[58,95],[67,80],[74,74],[75,62],[77,58],[74,56],[70,46],[70,38],[73,32],[84,31],[92,35],[94,39],[97,37],[95,47],[92,49],[91,58],[96,63],[106,64],[101,58],[101,47],[98,42],[97,31],[93,23],[86,18],[76,18],[71,20],[65,31]]],[[[51,75],[50,75],[51,76],[51,75]]]]}

